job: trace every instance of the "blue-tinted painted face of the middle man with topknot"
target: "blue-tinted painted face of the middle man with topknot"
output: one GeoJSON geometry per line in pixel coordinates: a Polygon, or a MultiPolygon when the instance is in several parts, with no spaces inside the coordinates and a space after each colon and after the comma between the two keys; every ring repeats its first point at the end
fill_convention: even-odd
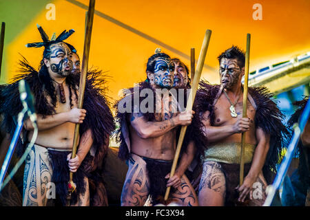
{"type": "Polygon", "coordinates": [[[170,58],[159,57],[155,61],[154,83],[161,88],[170,89],[174,85],[174,63],[170,58]]]}

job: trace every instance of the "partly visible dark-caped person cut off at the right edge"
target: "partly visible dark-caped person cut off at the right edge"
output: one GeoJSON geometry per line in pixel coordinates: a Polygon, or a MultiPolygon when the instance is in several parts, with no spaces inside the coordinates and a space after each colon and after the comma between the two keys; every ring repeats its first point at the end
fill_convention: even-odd
{"type": "MultiPolygon", "coordinates": [[[[293,124],[298,122],[308,101],[309,97],[305,97],[293,103],[296,111],[287,122],[289,129],[293,129],[293,124]]],[[[281,202],[283,206],[310,206],[310,120],[300,135],[296,153],[299,158],[298,168],[290,177],[285,177],[281,202]]]]}

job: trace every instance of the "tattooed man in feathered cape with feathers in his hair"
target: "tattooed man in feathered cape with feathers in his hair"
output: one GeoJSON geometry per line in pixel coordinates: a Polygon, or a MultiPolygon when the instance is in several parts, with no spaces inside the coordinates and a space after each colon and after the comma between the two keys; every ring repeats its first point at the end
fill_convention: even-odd
{"type": "MultiPolygon", "coordinates": [[[[77,109],[79,74],[72,72],[72,52],[63,41],[74,30],[63,31],[58,37],[48,39],[38,25],[43,42],[28,43],[28,47],[45,47],[39,72],[24,59],[21,72],[11,84],[1,88],[5,100],[0,107],[3,127],[12,134],[14,121],[22,109],[19,101],[18,83],[24,79],[34,93],[35,109],[38,115],[38,137],[25,161],[23,179],[23,206],[65,206],[68,195],[69,172],[74,172],[76,190],[70,203],[75,206],[89,206],[90,191],[87,177],[91,174],[92,161],[98,161],[105,151],[109,135],[114,129],[112,113],[103,96],[104,80],[100,72],[89,73],[84,98],[84,109],[77,109]],[[86,115],[87,113],[87,115],[86,115]],[[70,159],[74,136],[74,123],[80,126],[79,149],[74,159],[70,159]],[[56,200],[47,194],[56,186],[56,200]]],[[[33,127],[26,120],[23,140],[17,144],[21,155],[32,137],[33,127]]],[[[96,162],[95,162],[96,163],[96,162]]]]}

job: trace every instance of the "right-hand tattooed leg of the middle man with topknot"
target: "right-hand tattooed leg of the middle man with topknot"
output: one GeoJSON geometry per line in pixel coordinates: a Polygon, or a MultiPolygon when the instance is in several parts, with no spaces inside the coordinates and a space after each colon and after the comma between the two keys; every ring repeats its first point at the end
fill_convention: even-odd
{"type": "Polygon", "coordinates": [[[196,192],[185,175],[181,178],[181,184],[171,195],[172,201],[180,206],[198,206],[196,192]]]}

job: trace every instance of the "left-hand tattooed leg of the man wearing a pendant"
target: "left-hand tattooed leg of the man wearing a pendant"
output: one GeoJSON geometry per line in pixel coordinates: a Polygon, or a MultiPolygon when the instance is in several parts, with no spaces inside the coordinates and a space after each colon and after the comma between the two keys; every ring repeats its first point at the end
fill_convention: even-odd
{"type": "Polygon", "coordinates": [[[199,206],[224,206],[225,175],[216,162],[205,162],[198,189],[199,206]]]}

